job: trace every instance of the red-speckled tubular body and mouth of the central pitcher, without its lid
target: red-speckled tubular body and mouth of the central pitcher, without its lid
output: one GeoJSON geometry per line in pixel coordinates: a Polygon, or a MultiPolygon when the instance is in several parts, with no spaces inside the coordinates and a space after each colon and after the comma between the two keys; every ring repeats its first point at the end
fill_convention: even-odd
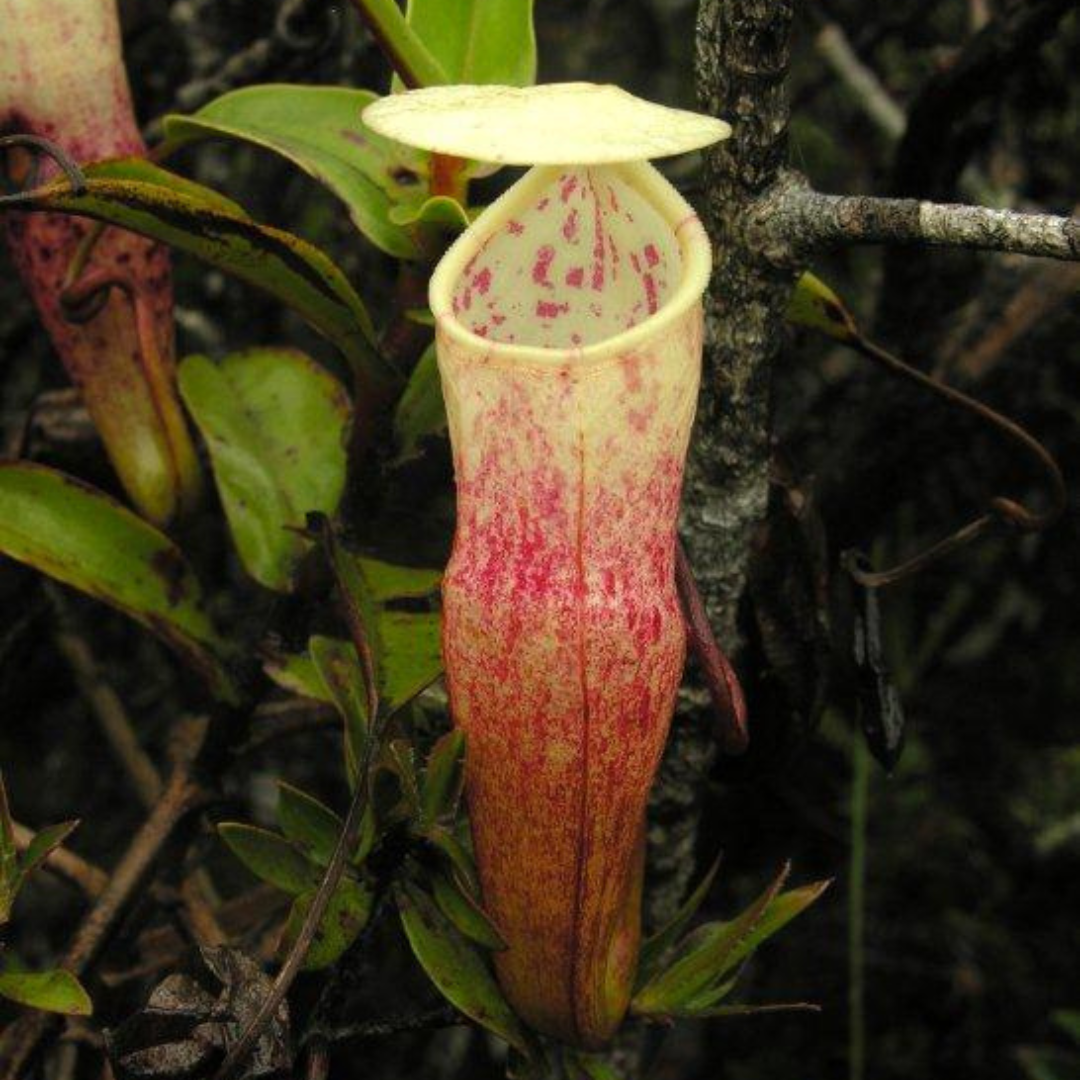
{"type": "Polygon", "coordinates": [[[686,643],[675,524],[710,270],[644,162],[538,167],[431,286],[458,521],[455,723],[508,998],[598,1045],[626,1010],[645,808],[686,643]]]}

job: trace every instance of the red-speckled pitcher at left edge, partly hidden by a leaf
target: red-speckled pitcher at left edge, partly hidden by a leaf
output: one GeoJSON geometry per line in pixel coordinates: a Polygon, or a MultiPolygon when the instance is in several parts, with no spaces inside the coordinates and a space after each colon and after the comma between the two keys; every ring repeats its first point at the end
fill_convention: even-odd
{"type": "MultiPolygon", "coordinates": [[[[114,0],[0,0],[0,135],[9,132],[51,139],[80,163],[145,151],[114,0]]],[[[43,172],[53,175],[52,166],[43,172]]],[[[167,522],[200,490],[175,390],[168,253],[107,229],[85,273],[122,280],[130,295],[113,288],[99,312],[76,323],[65,316],[60,294],[93,224],[64,214],[8,214],[2,226],[120,480],[147,517],[167,522]]]]}

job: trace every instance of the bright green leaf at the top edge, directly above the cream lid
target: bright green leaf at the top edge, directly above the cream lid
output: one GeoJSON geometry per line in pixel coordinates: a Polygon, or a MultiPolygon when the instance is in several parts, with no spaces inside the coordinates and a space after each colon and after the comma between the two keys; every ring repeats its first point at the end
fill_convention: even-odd
{"type": "Polygon", "coordinates": [[[409,0],[406,18],[447,82],[527,86],[536,80],[532,0],[409,0]]]}

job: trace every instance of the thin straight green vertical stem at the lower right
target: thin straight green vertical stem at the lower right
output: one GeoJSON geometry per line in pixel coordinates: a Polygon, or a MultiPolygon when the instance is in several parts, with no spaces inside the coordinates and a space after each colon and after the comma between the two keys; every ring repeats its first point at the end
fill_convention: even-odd
{"type": "Polygon", "coordinates": [[[864,946],[866,932],[866,822],[870,754],[855,731],[851,739],[851,851],[848,859],[848,1078],[863,1080],[866,1066],[864,946]]]}

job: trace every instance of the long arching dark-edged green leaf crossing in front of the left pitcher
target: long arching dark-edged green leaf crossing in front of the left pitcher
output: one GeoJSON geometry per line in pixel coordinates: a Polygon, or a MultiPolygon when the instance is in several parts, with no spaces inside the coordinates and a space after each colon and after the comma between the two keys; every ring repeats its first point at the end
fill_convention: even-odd
{"type": "Polygon", "coordinates": [[[57,180],[18,210],[92,217],[188,252],[296,311],[349,360],[363,395],[380,404],[393,392],[399,375],[375,347],[364,305],[320,248],[227,210],[215,192],[145,162],[89,165],[84,172],[84,194],[57,180]]]}

